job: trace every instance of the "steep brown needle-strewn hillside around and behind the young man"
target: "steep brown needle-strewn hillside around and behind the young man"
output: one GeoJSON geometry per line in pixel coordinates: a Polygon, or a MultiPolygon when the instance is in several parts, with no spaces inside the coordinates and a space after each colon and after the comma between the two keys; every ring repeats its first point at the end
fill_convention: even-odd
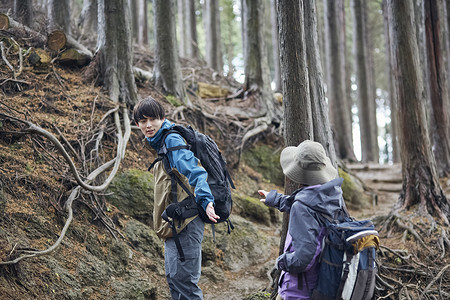
{"type": "MultiPolygon", "coordinates": [[[[146,64],[152,61],[150,55],[137,54],[136,63],[151,70],[146,64]]],[[[17,59],[14,52],[8,56],[14,67],[17,59]]],[[[168,299],[163,243],[151,228],[153,178],[146,169],[153,157],[136,130],[109,189],[81,192],[61,244],[49,253],[39,252],[53,247],[60,237],[69,216],[64,205],[77,184],[55,144],[27,132],[30,123],[53,134],[85,178],[115,155],[113,120],[106,116],[115,105],[100,87],[83,81],[85,69],[32,67],[26,59],[16,78],[4,62],[0,64],[0,260],[20,260],[0,265],[0,299],[168,299]],[[22,259],[36,251],[36,257],[22,259]]],[[[211,70],[201,65],[189,68],[197,68],[204,82],[212,80],[211,70]]],[[[214,77],[214,83],[230,90],[237,86],[214,77]]],[[[141,97],[152,95],[163,102],[170,118],[175,109],[170,99],[150,82],[139,81],[138,88],[141,97]]],[[[227,299],[241,299],[263,290],[276,257],[279,214],[256,199],[257,189],[276,185],[245,163],[241,166],[232,170],[238,187],[231,218],[235,229],[228,235],[224,224],[216,226],[214,243],[206,228],[200,282],[205,299],[224,299],[217,297],[218,291],[227,299]]]]}

